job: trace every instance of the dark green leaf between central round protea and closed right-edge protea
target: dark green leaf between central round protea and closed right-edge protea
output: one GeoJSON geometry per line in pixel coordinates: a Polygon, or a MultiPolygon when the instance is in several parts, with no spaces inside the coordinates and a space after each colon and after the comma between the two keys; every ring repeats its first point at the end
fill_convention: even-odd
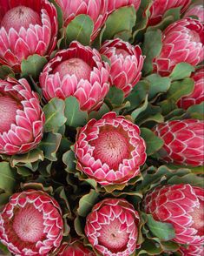
{"type": "Polygon", "coordinates": [[[157,137],[153,131],[147,128],[141,128],[141,137],[144,138],[146,142],[146,152],[148,156],[158,152],[163,145],[163,140],[157,137]]]}

